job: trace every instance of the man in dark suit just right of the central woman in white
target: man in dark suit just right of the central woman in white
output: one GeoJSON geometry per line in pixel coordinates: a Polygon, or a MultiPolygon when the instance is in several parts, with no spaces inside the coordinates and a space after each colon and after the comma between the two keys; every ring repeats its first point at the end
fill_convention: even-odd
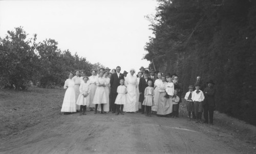
{"type": "MultiPolygon", "coordinates": [[[[144,77],[140,78],[139,82],[139,92],[140,92],[140,97],[139,97],[139,102],[141,102],[141,114],[144,114],[145,112],[145,106],[142,105],[144,101],[144,91],[145,88],[148,86],[147,82],[152,81],[151,78],[148,78],[148,70],[144,71],[144,77]]],[[[154,87],[154,84],[152,84],[152,87],[154,87]]]]}

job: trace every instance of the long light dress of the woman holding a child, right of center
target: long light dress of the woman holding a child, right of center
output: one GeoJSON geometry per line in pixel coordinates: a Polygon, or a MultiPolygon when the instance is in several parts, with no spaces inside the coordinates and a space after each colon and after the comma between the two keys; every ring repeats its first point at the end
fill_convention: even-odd
{"type": "Polygon", "coordinates": [[[158,115],[167,115],[173,112],[173,103],[171,98],[165,98],[166,95],[165,89],[167,87],[166,82],[161,82],[159,84],[159,97],[158,97],[158,107],[157,114],[158,115]]]}

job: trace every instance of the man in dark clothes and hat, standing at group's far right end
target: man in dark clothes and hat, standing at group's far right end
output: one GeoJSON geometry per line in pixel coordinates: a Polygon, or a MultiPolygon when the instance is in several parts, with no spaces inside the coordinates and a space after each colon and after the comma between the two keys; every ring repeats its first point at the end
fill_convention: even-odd
{"type": "Polygon", "coordinates": [[[210,119],[210,124],[214,123],[214,108],[215,108],[215,92],[216,89],[214,88],[214,82],[212,80],[207,82],[207,88],[204,89],[204,103],[203,103],[203,108],[204,108],[204,123],[208,123],[208,113],[209,113],[209,119],[210,119]]]}

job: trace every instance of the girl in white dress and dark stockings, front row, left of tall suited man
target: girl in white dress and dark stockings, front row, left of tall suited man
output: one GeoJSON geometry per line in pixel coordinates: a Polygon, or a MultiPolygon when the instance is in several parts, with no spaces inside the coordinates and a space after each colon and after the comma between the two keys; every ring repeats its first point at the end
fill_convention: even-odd
{"type": "Polygon", "coordinates": [[[95,95],[93,98],[93,104],[95,105],[95,114],[97,113],[98,105],[101,106],[101,113],[106,114],[104,112],[103,105],[106,104],[106,93],[105,93],[105,78],[103,77],[103,72],[99,72],[99,78],[96,82],[97,88],[95,91],[95,95]]]}

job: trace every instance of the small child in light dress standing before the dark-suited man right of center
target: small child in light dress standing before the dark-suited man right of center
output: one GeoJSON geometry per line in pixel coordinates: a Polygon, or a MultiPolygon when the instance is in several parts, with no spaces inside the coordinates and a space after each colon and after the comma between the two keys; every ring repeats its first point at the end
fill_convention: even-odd
{"type": "Polygon", "coordinates": [[[145,88],[143,104],[146,106],[146,116],[151,117],[151,107],[154,106],[154,88],[152,87],[152,81],[147,82],[148,87],[145,88]]]}

